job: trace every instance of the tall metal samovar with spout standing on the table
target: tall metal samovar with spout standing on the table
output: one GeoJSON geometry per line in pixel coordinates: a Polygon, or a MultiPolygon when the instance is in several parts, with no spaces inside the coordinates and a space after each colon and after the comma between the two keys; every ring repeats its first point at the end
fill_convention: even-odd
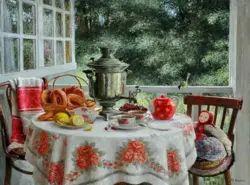
{"type": "Polygon", "coordinates": [[[118,111],[113,108],[120,99],[133,100],[132,97],[124,97],[128,64],[119,61],[113,56],[107,47],[100,48],[101,57],[97,60],[91,58],[87,64],[89,70],[83,72],[89,79],[89,94],[102,106],[100,115],[108,120],[109,116],[118,111]]]}

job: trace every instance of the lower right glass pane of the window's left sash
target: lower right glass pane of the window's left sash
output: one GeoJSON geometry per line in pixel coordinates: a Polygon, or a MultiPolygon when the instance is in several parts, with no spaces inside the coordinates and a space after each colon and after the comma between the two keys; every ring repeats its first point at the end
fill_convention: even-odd
{"type": "Polygon", "coordinates": [[[24,70],[36,68],[36,40],[23,40],[24,70]]]}

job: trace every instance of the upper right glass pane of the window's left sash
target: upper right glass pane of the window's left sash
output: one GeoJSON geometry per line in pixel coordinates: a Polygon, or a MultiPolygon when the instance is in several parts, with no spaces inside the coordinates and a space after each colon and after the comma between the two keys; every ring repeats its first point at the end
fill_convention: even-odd
{"type": "Polygon", "coordinates": [[[23,33],[36,34],[36,10],[35,6],[23,3],[23,33]]]}

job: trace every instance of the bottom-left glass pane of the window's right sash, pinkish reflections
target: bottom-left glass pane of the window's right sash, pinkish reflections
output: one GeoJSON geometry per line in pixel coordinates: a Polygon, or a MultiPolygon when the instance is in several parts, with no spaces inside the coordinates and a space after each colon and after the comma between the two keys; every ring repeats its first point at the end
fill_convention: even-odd
{"type": "Polygon", "coordinates": [[[54,64],[53,41],[44,41],[44,66],[51,66],[54,64]]]}

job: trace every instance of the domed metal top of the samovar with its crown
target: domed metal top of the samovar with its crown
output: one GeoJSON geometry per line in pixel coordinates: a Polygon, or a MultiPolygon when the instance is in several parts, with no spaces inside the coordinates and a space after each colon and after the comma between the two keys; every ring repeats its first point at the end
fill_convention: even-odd
{"type": "Polygon", "coordinates": [[[100,47],[100,53],[102,56],[88,63],[87,66],[95,69],[97,72],[123,72],[129,64],[119,61],[113,56],[113,51],[108,47],[100,47]]]}

